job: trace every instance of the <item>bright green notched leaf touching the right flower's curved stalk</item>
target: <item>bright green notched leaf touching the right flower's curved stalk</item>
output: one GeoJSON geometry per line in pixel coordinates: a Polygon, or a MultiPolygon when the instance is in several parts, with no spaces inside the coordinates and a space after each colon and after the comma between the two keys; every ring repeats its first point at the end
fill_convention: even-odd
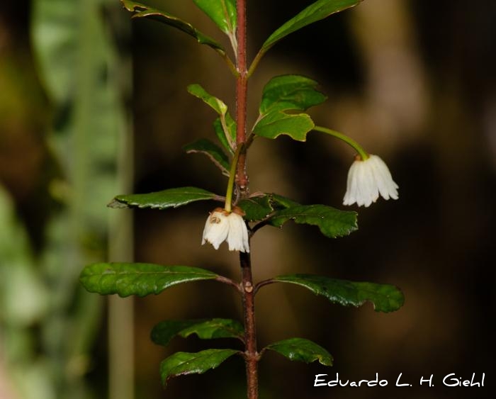
{"type": "Polygon", "coordinates": [[[315,127],[306,113],[291,115],[282,111],[271,112],[262,118],[253,128],[258,136],[274,139],[280,135],[288,135],[293,140],[307,140],[307,133],[315,127]]]}

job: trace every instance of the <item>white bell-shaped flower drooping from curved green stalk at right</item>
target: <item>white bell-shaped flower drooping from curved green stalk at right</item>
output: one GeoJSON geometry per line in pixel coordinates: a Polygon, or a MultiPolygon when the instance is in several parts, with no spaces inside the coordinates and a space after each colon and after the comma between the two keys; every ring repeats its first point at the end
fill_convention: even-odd
{"type": "Polygon", "coordinates": [[[386,200],[398,199],[398,184],[387,165],[377,155],[371,154],[365,161],[357,157],[349,168],[343,205],[370,206],[379,194],[386,200]]]}

